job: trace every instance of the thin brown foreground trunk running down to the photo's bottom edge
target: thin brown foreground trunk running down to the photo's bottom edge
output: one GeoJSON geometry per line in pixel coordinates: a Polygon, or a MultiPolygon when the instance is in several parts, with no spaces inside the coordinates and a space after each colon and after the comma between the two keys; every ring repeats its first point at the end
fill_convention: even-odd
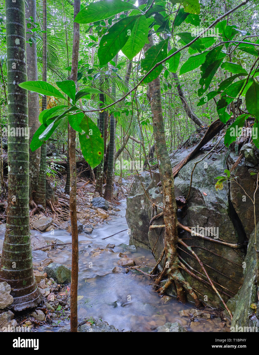
{"type": "MultiPolygon", "coordinates": [[[[74,18],[80,11],[80,0],[74,1],[74,18]]],[[[80,31],[79,23],[74,22],[74,39],[72,51],[71,80],[77,87],[78,53],[80,31]]],[[[69,207],[72,234],[72,275],[71,275],[71,313],[70,330],[77,332],[77,284],[78,284],[78,230],[76,217],[76,131],[69,128],[69,164],[70,164],[70,195],[69,207]]]]}

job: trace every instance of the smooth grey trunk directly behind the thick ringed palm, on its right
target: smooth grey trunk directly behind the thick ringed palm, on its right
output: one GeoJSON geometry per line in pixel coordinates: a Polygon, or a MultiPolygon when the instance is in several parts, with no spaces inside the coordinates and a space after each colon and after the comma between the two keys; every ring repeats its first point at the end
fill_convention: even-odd
{"type": "MultiPolygon", "coordinates": [[[[25,17],[33,18],[34,22],[37,22],[36,18],[36,1],[27,0],[25,4],[25,17]]],[[[27,23],[27,21],[26,21],[27,23]]],[[[26,34],[28,40],[31,34],[26,34]]],[[[32,42],[26,44],[27,55],[27,80],[38,80],[38,68],[37,68],[37,46],[32,42]]],[[[34,133],[39,128],[39,94],[37,92],[28,91],[28,122],[30,129],[29,144],[31,143],[34,133]]],[[[32,152],[29,148],[29,198],[32,197],[32,191],[37,190],[37,182],[39,176],[39,166],[41,158],[41,148],[32,152]]]]}

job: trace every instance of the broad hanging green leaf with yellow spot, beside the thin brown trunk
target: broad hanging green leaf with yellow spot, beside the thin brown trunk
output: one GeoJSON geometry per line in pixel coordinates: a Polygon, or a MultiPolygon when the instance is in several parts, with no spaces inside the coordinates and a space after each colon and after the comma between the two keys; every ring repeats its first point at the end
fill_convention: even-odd
{"type": "Polygon", "coordinates": [[[87,116],[84,116],[80,127],[85,131],[85,134],[79,133],[81,152],[91,168],[95,168],[103,157],[103,137],[97,125],[87,116]]]}

